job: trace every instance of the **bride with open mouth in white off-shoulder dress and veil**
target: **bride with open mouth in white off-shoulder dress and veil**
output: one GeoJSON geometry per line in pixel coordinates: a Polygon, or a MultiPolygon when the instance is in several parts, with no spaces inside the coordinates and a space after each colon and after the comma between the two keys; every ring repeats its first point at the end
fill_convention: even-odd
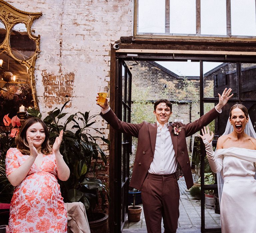
{"type": "MultiPolygon", "coordinates": [[[[224,184],[220,199],[222,233],[256,232],[256,134],[248,110],[235,104],[229,112],[224,134],[212,148],[213,132],[209,127],[198,134],[205,144],[211,169],[220,173],[224,184]]],[[[218,187],[219,187],[218,179],[218,187]]]]}

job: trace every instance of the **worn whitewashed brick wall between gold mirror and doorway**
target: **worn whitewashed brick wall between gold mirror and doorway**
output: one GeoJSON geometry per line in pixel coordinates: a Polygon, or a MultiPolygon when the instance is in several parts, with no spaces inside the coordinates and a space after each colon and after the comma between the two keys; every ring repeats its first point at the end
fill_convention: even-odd
{"type": "MultiPolygon", "coordinates": [[[[72,100],[64,112],[97,114],[96,93],[110,84],[111,44],[133,35],[133,0],[7,0],[26,12],[42,12],[32,30],[41,36],[35,82],[43,118],[72,100]]],[[[95,127],[109,129],[99,116],[95,127]]],[[[109,155],[108,146],[101,148],[109,155]]],[[[104,171],[109,174],[109,160],[104,171]]],[[[108,183],[108,177],[105,181],[108,183]]]]}

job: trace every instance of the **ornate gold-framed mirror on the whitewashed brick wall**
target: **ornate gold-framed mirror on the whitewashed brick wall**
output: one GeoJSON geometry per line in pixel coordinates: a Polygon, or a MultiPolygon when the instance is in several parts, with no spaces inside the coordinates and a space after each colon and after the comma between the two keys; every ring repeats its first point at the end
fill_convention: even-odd
{"type": "Polygon", "coordinates": [[[0,5],[0,126],[3,116],[19,112],[23,105],[38,109],[34,67],[40,35],[31,32],[42,13],[20,11],[1,0],[0,5]]]}

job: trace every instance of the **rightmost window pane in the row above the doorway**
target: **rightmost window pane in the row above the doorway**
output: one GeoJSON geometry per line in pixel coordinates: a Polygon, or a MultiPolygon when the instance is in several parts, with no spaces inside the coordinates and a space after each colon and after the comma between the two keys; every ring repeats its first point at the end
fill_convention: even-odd
{"type": "Polygon", "coordinates": [[[255,36],[255,0],[231,0],[232,35],[255,36]]]}

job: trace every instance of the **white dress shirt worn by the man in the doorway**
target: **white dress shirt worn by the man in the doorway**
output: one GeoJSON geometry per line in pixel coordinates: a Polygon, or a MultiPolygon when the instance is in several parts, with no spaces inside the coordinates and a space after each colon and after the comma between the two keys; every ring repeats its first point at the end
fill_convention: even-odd
{"type": "Polygon", "coordinates": [[[174,173],[177,169],[177,159],[173,149],[172,138],[168,129],[169,122],[162,126],[158,121],[156,133],[156,146],[153,161],[148,172],[157,175],[174,173]]]}

